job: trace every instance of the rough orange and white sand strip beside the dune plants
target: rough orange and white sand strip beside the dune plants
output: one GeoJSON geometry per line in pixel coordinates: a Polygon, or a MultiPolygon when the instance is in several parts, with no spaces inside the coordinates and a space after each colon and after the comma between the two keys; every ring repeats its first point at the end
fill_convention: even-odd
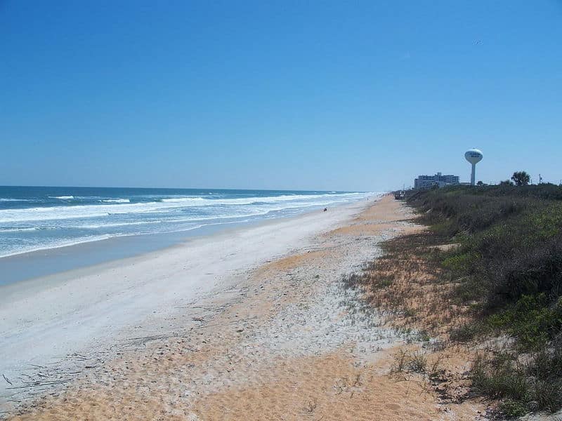
{"type": "MultiPolygon", "coordinates": [[[[345,279],[381,256],[381,241],[419,229],[410,218],[390,196],[318,229],[308,225],[313,218],[301,218],[293,228],[308,234],[300,231],[285,253],[233,270],[217,288],[157,317],[152,328],[145,323],[114,339],[109,349],[30,373],[30,386],[4,405],[6,417],[479,419],[482,405],[451,406],[418,377],[392,375],[394,356],[422,344],[388,326],[360,290],[346,288],[345,279]]],[[[275,234],[259,235],[256,250],[287,239],[275,234]]]]}

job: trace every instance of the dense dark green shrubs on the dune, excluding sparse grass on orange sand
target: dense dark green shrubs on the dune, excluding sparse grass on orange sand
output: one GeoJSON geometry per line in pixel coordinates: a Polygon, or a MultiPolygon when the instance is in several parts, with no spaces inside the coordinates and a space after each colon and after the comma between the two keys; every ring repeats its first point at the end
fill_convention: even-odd
{"type": "Polygon", "coordinates": [[[512,180],[408,199],[421,222],[459,244],[433,255],[438,276],[455,284],[452,302],[471,309],[450,340],[506,338],[470,377],[507,417],[562,408],[562,188],[528,185],[524,172],[512,180]]]}

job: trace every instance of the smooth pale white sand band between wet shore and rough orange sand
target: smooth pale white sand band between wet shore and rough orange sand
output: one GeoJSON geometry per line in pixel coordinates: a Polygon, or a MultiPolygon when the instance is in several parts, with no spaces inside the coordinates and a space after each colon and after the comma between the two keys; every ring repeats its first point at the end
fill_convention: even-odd
{"type": "MultiPolygon", "coordinates": [[[[159,333],[162,326],[174,330],[177,307],[193,307],[204,295],[239,282],[240,273],[309,246],[309,237],[369,204],[233,227],[133,258],[0,287],[9,296],[0,303],[0,373],[13,379],[31,364],[103,352],[115,340],[159,333]]],[[[15,386],[11,382],[0,382],[0,396],[15,386]]]]}

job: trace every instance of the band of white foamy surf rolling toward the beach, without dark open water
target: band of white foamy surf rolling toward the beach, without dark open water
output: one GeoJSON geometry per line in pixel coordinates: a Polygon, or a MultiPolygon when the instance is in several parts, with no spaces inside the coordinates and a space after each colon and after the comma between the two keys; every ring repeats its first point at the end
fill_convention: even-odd
{"type": "MultiPolygon", "coordinates": [[[[169,233],[199,229],[208,225],[239,223],[248,220],[277,218],[312,208],[376,196],[375,193],[285,194],[245,198],[211,198],[205,196],[142,196],[152,201],[131,203],[117,197],[56,196],[88,199],[89,204],[47,206],[0,210],[0,235],[53,229],[54,234],[33,237],[30,243],[0,247],[0,257],[34,250],[72,246],[117,236],[169,233]],[[91,200],[94,202],[92,203],[91,200]],[[157,216],[158,215],[158,216],[157,216]],[[46,222],[51,221],[51,222],[46,222]],[[30,227],[31,225],[31,227],[30,227]],[[35,225],[35,226],[34,226],[35,225]],[[67,229],[91,229],[92,235],[72,234],[67,229]],[[76,238],[70,236],[76,235],[76,238]]],[[[140,198],[141,196],[139,196],[140,198]]],[[[216,197],[216,196],[215,196],[216,197]]],[[[232,196],[231,196],[232,197],[232,196]]],[[[7,198],[6,198],[7,199],[7,198]]],[[[76,202],[74,202],[76,203],[76,202]]],[[[34,236],[34,234],[31,234],[34,236]]],[[[1,237],[0,237],[1,239],[1,237]]],[[[27,240],[26,240],[27,241],[27,240]]]]}

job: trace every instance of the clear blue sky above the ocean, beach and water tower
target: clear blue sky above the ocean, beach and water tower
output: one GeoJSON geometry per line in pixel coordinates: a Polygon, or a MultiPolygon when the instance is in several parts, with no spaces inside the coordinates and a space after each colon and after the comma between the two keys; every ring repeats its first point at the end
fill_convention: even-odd
{"type": "Polygon", "coordinates": [[[562,179],[562,1],[0,0],[0,185],[562,179]]]}

